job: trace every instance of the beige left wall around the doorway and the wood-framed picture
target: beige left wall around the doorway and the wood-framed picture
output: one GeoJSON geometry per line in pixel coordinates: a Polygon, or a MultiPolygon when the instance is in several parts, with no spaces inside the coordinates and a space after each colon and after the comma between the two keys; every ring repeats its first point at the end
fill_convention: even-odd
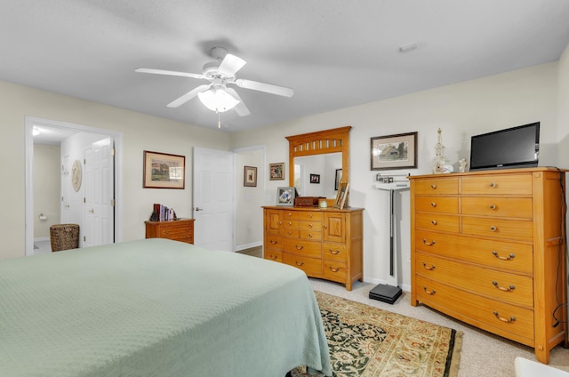
{"type": "MultiPolygon", "coordinates": [[[[150,216],[153,203],[163,203],[180,216],[191,215],[192,148],[228,150],[229,135],[217,129],[204,129],[147,116],[120,108],[78,100],[26,86],[0,82],[0,140],[4,146],[4,180],[1,187],[4,212],[0,217],[0,258],[24,255],[25,237],[25,116],[34,116],[71,124],[82,124],[123,132],[124,148],[124,240],[144,237],[144,221],[150,216]],[[186,156],[186,179],[183,190],[142,188],[142,151],[155,150],[186,156]]],[[[118,198],[121,200],[121,198],[118,198]]]]}

